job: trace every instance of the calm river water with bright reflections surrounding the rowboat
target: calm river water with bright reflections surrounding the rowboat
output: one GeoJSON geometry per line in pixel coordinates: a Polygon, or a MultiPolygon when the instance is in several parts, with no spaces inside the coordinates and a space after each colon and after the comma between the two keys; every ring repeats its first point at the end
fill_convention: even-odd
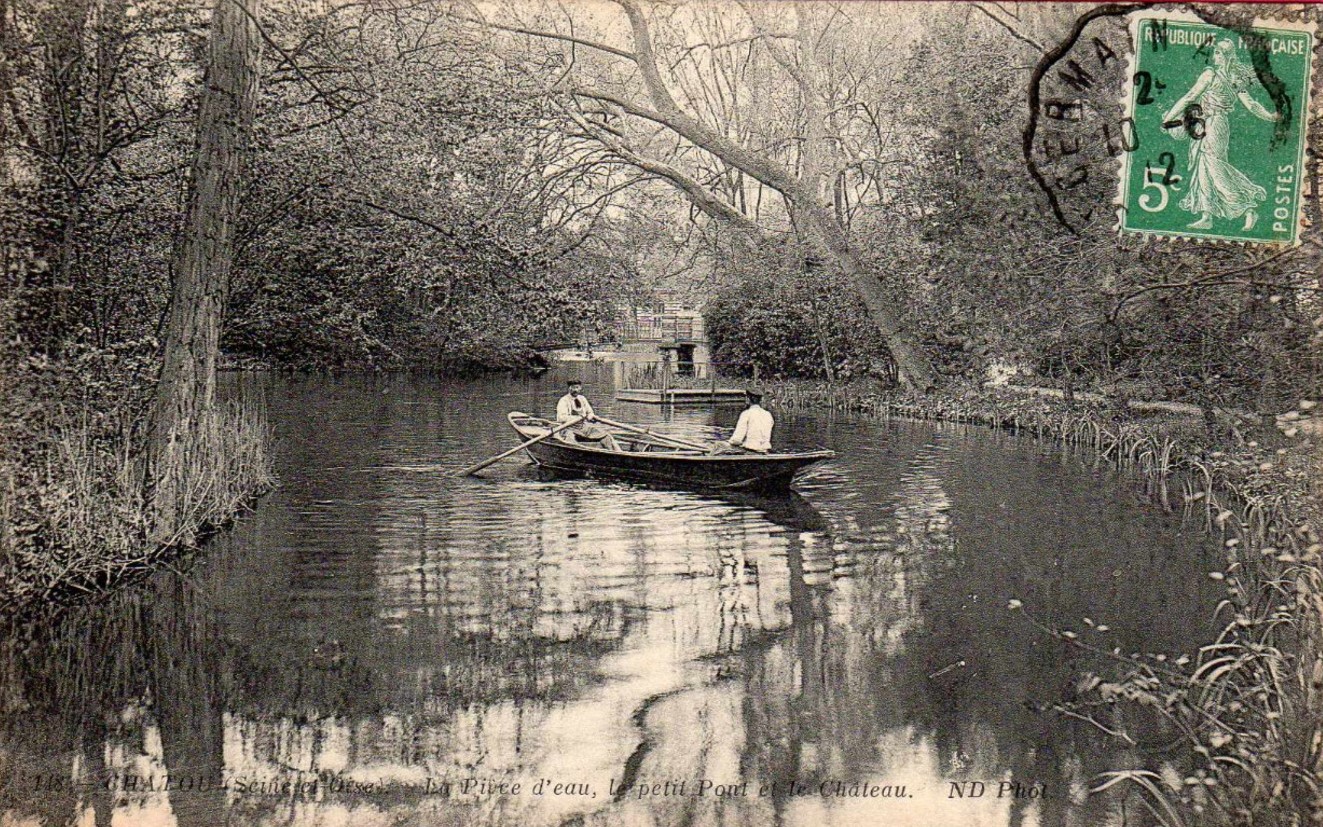
{"type": "MultiPolygon", "coordinates": [[[[734,422],[586,378],[618,419],[734,422]]],[[[839,454],[792,496],[523,458],[450,476],[562,380],[242,377],[279,488],[5,638],[0,823],[1144,823],[1088,791],[1179,750],[1056,709],[1101,651],[1215,635],[1216,544],[1138,482],[979,427],[783,412],[778,447],[839,454]]]]}

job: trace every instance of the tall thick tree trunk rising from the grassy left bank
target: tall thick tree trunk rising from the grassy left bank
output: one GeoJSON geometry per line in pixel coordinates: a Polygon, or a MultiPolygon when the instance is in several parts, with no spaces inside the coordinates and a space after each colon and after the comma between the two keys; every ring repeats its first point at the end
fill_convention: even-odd
{"type": "Polygon", "coordinates": [[[216,359],[229,292],[234,225],[257,105],[259,0],[216,0],[197,114],[197,148],[184,232],[175,250],[175,286],[164,363],[152,410],[149,479],[153,539],[191,529],[189,487],[220,458],[206,451],[214,422],[216,359]]]}

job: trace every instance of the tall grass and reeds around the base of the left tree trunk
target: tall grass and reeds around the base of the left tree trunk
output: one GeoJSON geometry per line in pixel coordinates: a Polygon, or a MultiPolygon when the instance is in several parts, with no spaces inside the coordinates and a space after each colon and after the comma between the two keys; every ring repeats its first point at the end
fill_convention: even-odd
{"type": "Polygon", "coordinates": [[[270,429],[253,404],[201,417],[163,475],[179,529],[155,537],[142,429],[61,412],[40,450],[0,463],[0,613],[97,593],[224,525],[273,483],[270,429]]]}

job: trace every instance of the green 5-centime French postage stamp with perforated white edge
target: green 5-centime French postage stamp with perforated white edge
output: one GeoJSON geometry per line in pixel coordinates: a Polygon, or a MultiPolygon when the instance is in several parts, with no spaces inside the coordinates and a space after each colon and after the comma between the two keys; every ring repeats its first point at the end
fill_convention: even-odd
{"type": "Polygon", "coordinates": [[[1312,26],[1131,20],[1121,230],[1298,243],[1312,26]]]}

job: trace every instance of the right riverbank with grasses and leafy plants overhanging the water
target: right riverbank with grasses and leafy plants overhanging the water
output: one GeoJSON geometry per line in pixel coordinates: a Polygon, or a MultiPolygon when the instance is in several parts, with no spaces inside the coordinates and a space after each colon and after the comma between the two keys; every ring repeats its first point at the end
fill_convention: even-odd
{"type": "Polygon", "coordinates": [[[1012,601],[1009,609],[1115,664],[1082,676],[1062,713],[1123,741],[1131,740],[1127,729],[1156,726],[1184,744],[1191,774],[1118,767],[1097,790],[1134,785],[1170,826],[1323,816],[1323,462],[1315,402],[1302,401],[1265,426],[1234,413],[1195,418],[1167,405],[1068,402],[1017,389],[917,396],[791,381],[771,385],[769,397],[790,410],[971,422],[1089,447],[1099,462],[1136,472],[1162,507],[1199,519],[1225,549],[1225,566],[1208,573],[1226,588],[1218,609],[1225,626],[1209,646],[1175,662],[1097,650],[1072,630],[1036,621],[1033,606],[1012,601]]]}

